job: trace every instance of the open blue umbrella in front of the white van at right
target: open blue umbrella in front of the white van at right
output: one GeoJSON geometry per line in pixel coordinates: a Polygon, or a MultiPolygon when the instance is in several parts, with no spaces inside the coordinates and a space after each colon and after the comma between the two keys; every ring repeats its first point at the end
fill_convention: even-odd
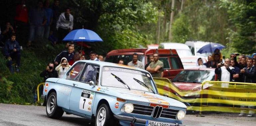
{"type": "Polygon", "coordinates": [[[207,52],[212,53],[215,49],[221,50],[223,48],[225,48],[225,46],[223,46],[222,44],[210,42],[210,44],[204,45],[197,52],[200,54],[207,52]]]}

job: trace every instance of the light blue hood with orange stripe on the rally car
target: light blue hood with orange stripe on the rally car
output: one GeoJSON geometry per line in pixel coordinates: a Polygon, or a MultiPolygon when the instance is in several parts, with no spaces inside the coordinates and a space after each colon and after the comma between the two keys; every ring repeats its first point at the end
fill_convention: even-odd
{"type": "Polygon", "coordinates": [[[112,87],[108,87],[108,90],[111,91],[111,93],[109,92],[107,94],[118,96],[126,100],[186,108],[186,105],[178,100],[154,93],[112,87]]]}

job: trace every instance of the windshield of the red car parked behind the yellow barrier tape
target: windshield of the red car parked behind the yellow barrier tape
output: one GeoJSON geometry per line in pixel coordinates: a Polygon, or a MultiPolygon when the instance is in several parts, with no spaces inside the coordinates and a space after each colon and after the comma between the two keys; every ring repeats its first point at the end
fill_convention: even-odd
{"type": "Polygon", "coordinates": [[[173,79],[173,82],[191,82],[202,83],[204,81],[213,81],[214,71],[207,70],[183,70],[173,79]]]}

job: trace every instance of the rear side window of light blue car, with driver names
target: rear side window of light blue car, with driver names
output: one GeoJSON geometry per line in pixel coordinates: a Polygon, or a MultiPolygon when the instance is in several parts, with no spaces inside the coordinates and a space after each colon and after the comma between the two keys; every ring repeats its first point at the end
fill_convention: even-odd
{"type": "Polygon", "coordinates": [[[82,69],[84,66],[84,62],[78,62],[76,63],[67,73],[66,79],[77,81],[79,78],[79,75],[82,73],[82,69]]]}

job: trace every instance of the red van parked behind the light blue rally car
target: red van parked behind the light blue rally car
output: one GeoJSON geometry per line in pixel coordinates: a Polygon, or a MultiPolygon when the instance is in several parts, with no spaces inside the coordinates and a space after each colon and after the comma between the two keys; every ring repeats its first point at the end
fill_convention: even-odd
{"type": "Polygon", "coordinates": [[[159,60],[164,63],[164,78],[173,79],[181,70],[183,65],[175,49],[117,49],[107,53],[105,62],[118,63],[119,59],[124,60],[124,65],[132,61],[132,54],[138,54],[138,60],[144,66],[149,62],[149,56],[155,52],[159,53],[159,60]]]}

